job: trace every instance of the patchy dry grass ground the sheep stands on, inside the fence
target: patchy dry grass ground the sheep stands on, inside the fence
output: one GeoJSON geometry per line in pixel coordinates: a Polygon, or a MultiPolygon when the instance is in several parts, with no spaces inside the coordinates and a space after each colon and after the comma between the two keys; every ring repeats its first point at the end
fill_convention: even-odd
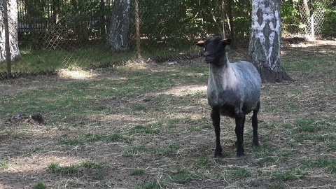
{"type": "Polygon", "coordinates": [[[214,158],[209,65],[200,59],[3,80],[0,188],[333,188],[335,54],[320,50],[286,51],[295,81],[262,84],[260,146],[248,116],[244,158],[230,118],[221,118],[223,158],[214,158]],[[36,111],[46,125],[6,123],[36,111]]]}

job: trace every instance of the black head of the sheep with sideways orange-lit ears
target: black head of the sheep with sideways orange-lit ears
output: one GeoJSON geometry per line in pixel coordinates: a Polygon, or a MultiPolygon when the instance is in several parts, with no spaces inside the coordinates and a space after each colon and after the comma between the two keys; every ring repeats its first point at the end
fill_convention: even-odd
{"type": "Polygon", "coordinates": [[[196,45],[204,47],[204,61],[211,64],[218,64],[219,59],[225,55],[225,46],[230,45],[231,39],[222,39],[220,36],[207,38],[206,41],[198,41],[196,45]]]}

